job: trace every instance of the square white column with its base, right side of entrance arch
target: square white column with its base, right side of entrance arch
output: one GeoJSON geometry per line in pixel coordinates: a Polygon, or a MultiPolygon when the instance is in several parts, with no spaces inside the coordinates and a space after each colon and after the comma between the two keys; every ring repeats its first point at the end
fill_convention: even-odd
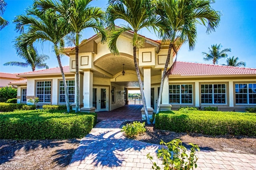
{"type": "MultiPolygon", "coordinates": [[[[151,67],[143,67],[144,73],[144,94],[148,109],[148,116],[152,118],[154,109],[151,107],[151,67]]],[[[142,120],[146,119],[144,108],[141,109],[142,120]]]]}

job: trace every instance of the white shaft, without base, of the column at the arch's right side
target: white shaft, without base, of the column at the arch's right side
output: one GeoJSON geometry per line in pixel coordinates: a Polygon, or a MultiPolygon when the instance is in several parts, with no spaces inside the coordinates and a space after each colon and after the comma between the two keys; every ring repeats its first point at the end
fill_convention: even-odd
{"type": "Polygon", "coordinates": [[[144,67],[144,94],[147,108],[151,108],[151,67],[144,67]]]}

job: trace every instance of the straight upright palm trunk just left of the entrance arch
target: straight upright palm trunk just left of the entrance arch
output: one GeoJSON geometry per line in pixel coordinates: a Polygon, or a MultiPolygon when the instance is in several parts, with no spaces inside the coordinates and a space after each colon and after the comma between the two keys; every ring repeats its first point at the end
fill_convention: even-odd
{"type": "Polygon", "coordinates": [[[79,37],[78,33],[76,33],[76,113],[78,112],[79,109],[79,98],[80,98],[80,93],[79,93],[79,72],[78,72],[78,52],[79,52],[79,37]]]}

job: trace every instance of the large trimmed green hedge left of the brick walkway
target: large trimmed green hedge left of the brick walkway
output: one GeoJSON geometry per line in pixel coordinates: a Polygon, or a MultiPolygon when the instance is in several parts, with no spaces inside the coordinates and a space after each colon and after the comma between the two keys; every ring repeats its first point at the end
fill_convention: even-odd
{"type": "Polygon", "coordinates": [[[82,138],[96,125],[96,113],[14,111],[0,113],[2,139],[82,138]]]}

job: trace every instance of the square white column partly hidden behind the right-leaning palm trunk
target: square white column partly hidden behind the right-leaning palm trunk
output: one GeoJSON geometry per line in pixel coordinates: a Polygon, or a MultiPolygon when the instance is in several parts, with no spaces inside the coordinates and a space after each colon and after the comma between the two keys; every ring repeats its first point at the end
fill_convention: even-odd
{"type": "MultiPolygon", "coordinates": [[[[163,75],[164,69],[161,71],[161,76],[163,75]]],[[[160,105],[161,111],[170,111],[172,105],[169,103],[169,80],[164,79],[163,93],[162,93],[162,104],[160,105]]]]}

